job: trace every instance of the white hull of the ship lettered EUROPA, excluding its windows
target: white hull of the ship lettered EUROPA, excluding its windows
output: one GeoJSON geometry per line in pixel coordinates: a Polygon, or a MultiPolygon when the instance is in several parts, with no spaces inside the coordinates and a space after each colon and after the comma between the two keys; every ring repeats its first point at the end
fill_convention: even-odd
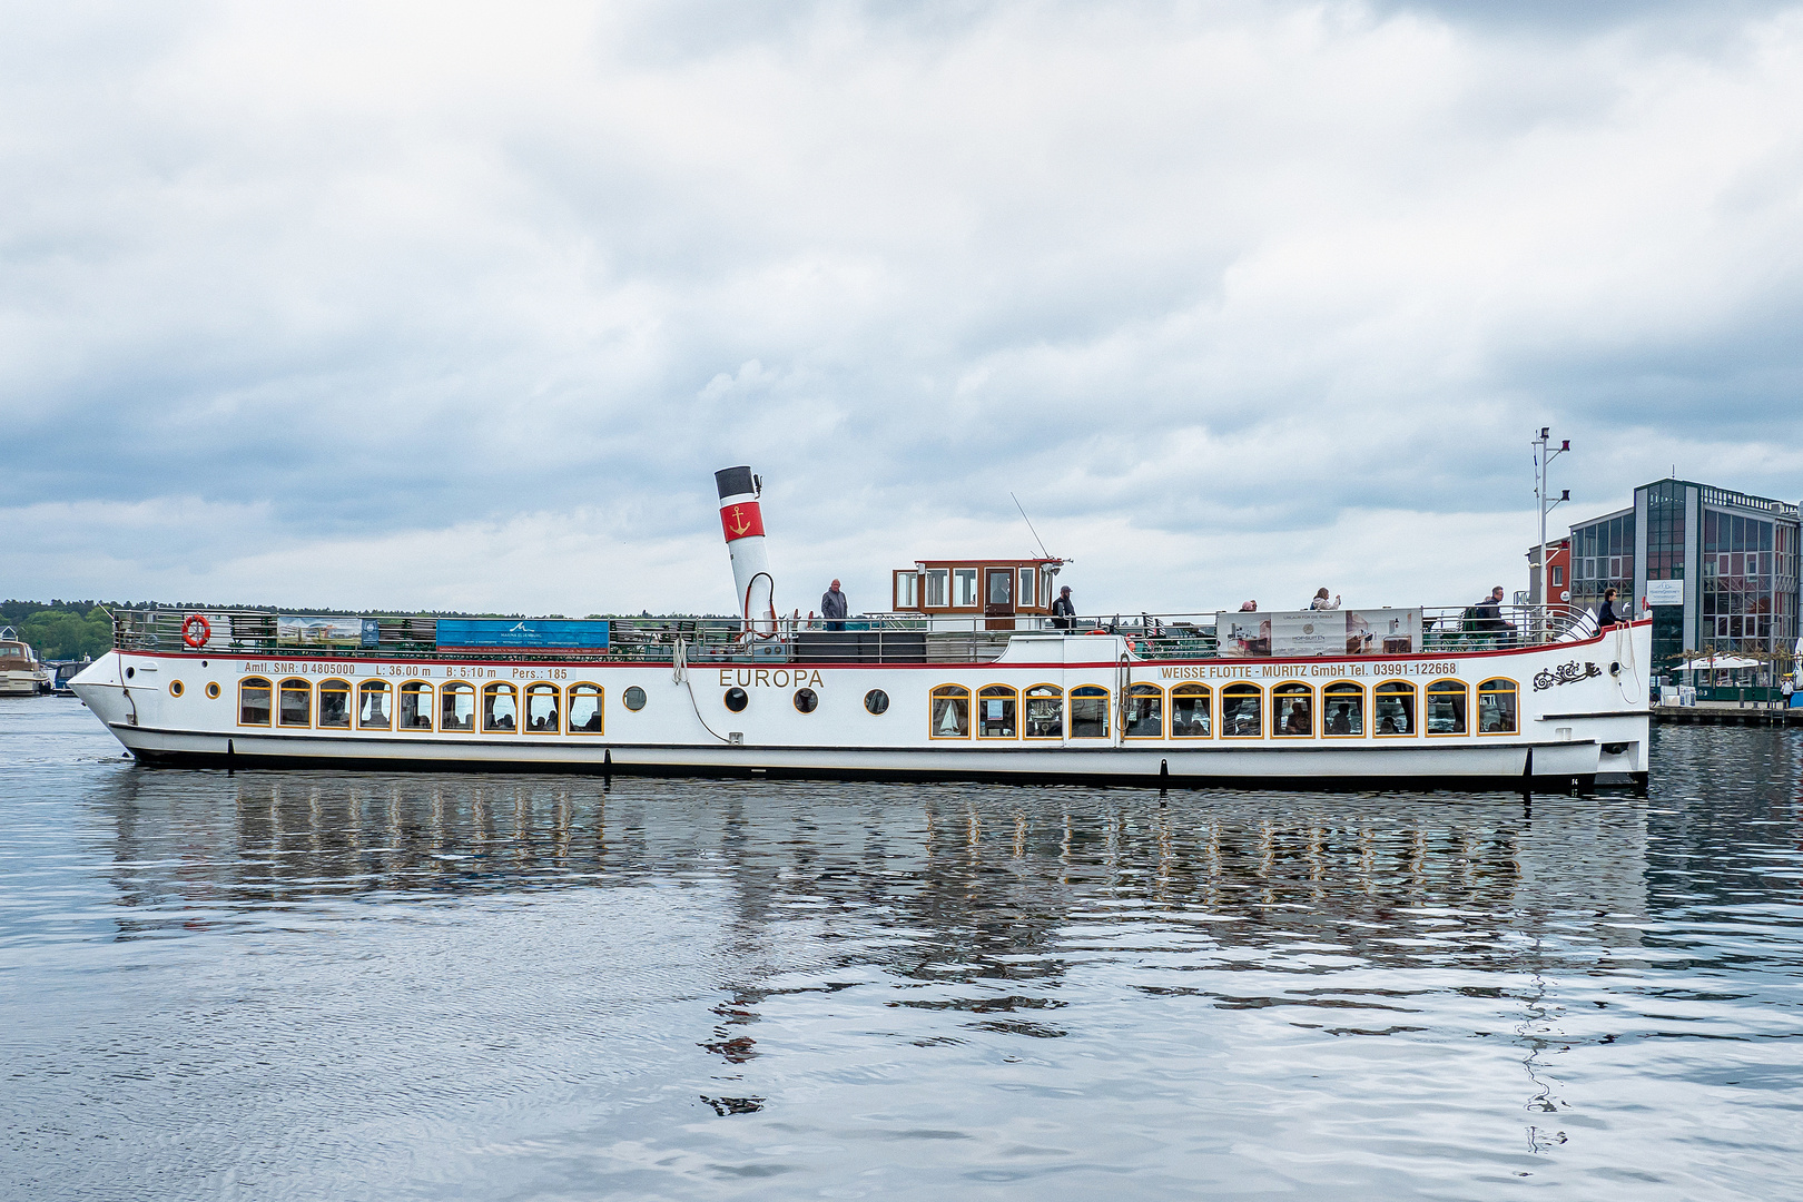
{"type": "MultiPolygon", "coordinates": [[[[992,663],[930,665],[689,665],[519,660],[380,660],[325,656],[220,658],[218,652],[112,652],[74,681],[76,692],[144,760],[233,766],[391,766],[422,769],[654,771],[680,775],[918,777],[999,780],[1111,780],[1121,784],[1300,784],[1414,788],[1540,782],[1565,788],[1599,775],[1644,780],[1648,746],[1650,625],[1623,627],[1579,643],[1403,660],[1206,660],[1158,661],[1125,652],[1114,636],[1017,636],[992,663]],[[1570,669],[1576,669],[1572,672],[1570,669]],[[283,728],[245,724],[238,688],[247,678],[279,683],[339,679],[418,679],[447,683],[595,681],[604,688],[604,733],[438,732],[283,728]],[[1111,723],[1100,739],[930,737],[930,690],[961,685],[1026,690],[1053,683],[1109,688],[1129,683],[1168,690],[1208,683],[1217,696],[1235,681],[1305,681],[1316,688],[1345,679],[1370,687],[1385,679],[1464,681],[1477,696],[1486,679],[1518,683],[1518,723],[1498,733],[1183,737],[1174,723],[1156,737],[1121,737],[1111,723]],[[1536,678],[1542,681],[1534,685],[1536,678]],[[180,681],[180,688],[173,688],[180,681]],[[216,685],[218,697],[207,697],[216,685]],[[806,685],[819,705],[799,712],[793,688],[806,685]],[[627,688],[645,694],[638,710],[622,705],[627,688]],[[725,706],[743,688],[741,712],[725,706]],[[871,714],[869,690],[889,708],[871,714]]],[[[312,696],[312,694],[308,694],[312,696]]],[[[1318,701],[1316,701],[1318,703],[1318,701]]],[[[1473,710],[1475,717],[1475,710],[1473,710]]]]}

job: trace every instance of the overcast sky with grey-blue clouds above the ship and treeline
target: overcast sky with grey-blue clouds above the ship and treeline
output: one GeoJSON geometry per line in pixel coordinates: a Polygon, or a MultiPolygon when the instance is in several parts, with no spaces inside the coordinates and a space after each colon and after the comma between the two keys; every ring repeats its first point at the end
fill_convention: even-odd
{"type": "Polygon", "coordinates": [[[0,596],[1087,611],[1803,494],[1803,4],[7,4],[0,596]]]}

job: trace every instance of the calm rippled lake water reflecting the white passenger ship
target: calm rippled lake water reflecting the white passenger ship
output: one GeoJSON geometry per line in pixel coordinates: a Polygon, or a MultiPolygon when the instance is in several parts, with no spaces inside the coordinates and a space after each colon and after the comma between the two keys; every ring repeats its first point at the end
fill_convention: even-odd
{"type": "Polygon", "coordinates": [[[0,1197],[1803,1197],[1799,789],[227,777],[0,701],[0,1197]]]}

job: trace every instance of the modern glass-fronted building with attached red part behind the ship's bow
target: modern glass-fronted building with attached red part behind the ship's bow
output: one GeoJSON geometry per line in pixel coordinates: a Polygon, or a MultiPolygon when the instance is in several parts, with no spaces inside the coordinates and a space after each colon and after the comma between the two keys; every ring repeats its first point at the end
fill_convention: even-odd
{"type": "Polygon", "coordinates": [[[1570,604],[1594,609],[1614,587],[1623,611],[1652,606],[1655,672],[1686,651],[1789,665],[1798,532],[1789,501],[1657,479],[1634,490],[1630,508],[1570,528],[1570,604]]]}

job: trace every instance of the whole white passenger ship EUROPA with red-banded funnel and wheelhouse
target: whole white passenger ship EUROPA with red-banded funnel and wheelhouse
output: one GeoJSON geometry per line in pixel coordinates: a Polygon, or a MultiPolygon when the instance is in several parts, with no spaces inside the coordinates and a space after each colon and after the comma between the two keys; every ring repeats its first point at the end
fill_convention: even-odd
{"type": "Polygon", "coordinates": [[[74,690],[144,764],[1646,784],[1650,622],[1349,607],[1058,629],[1049,557],[921,560],[889,613],[784,618],[761,481],[718,485],[736,620],[132,611],[74,690]]]}

